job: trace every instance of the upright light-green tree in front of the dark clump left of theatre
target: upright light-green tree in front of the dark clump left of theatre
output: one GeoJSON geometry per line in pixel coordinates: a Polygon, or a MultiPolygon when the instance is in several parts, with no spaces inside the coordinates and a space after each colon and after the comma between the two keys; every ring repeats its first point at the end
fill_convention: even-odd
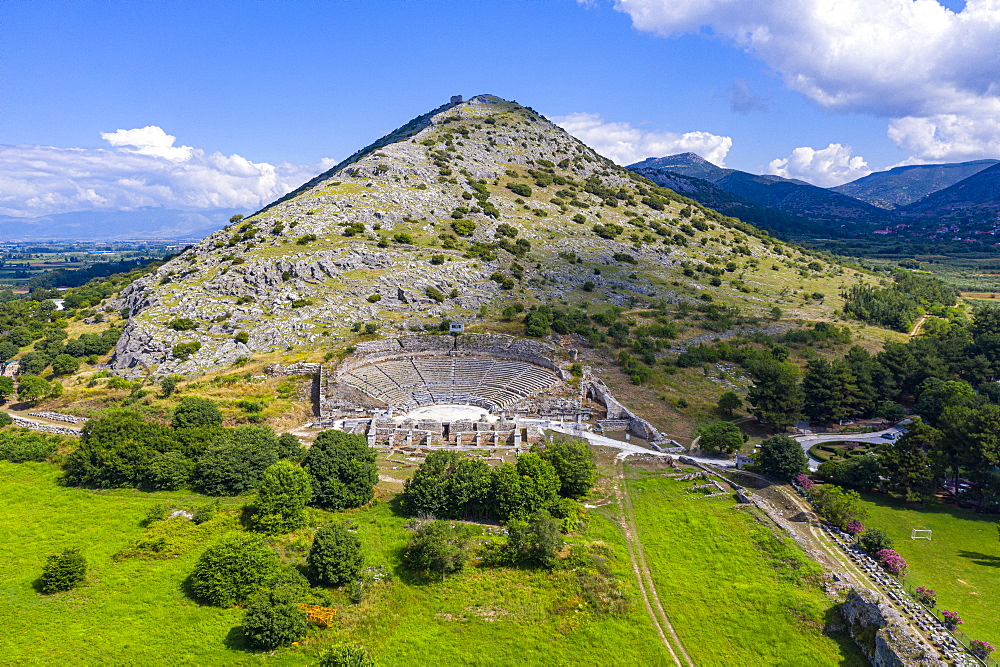
{"type": "Polygon", "coordinates": [[[306,504],[312,500],[309,473],[291,461],[278,461],[261,475],[253,524],[271,534],[289,533],[306,525],[306,504]]]}

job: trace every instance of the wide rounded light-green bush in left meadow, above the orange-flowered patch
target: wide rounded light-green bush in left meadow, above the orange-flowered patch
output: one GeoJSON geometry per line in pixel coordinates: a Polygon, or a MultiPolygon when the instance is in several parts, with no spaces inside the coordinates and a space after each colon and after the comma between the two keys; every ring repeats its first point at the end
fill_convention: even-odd
{"type": "Polygon", "coordinates": [[[278,570],[278,555],[257,535],[237,533],[210,546],[191,573],[195,597],[217,607],[243,604],[278,570]]]}

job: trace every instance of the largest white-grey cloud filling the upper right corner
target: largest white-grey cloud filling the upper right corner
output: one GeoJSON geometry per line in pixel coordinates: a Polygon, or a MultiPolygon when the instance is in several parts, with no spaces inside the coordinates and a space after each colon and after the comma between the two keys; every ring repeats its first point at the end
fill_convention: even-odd
{"type": "Polygon", "coordinates": [[[822,108],[894,119],[890,138],[925,151],[915,159],[996,154],[1000,0],[968,0],[960,12],[937,0],[616,0],[615,6],[639,30],[728,40],[822,108]],[[941,136],[930,142],[911,136],[911,119],[935,125],[941,136]]]}

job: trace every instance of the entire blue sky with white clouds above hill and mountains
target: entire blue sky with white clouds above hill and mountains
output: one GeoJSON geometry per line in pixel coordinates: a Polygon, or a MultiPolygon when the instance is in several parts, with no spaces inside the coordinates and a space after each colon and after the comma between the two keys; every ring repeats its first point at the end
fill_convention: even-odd
{"type": "Polygon", "coordinates": [[[995,4],[7,2],[0,213],[252,208],[456,93],[623,163],[833,185],[1000,157],[995,4]]]}

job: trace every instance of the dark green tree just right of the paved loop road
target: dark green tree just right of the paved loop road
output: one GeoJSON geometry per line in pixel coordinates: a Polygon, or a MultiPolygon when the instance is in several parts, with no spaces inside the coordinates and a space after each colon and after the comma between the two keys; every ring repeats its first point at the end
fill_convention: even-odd
{"type": "Polygon", "coordinates": [[[908,501],[934,497],[944,479],[942,433],[915,419],[908,432],[879,449],[885,480],[881,488],[908,501]]]}

